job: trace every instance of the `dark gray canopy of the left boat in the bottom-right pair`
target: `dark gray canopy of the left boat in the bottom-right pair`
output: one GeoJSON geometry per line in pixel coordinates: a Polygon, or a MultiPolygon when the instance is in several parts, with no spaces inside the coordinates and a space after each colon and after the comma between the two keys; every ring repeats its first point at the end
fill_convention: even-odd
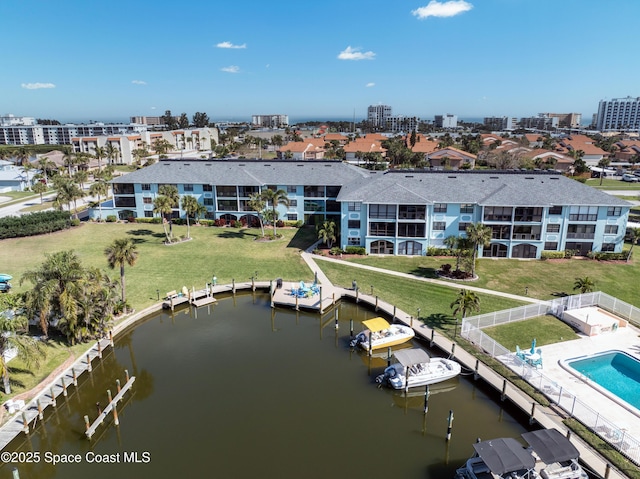
{"type": "Polygon", "coordinates": [[[536,464],[531,453],[512,437],[477,442],[473,448],[494,474],[533,469],[536,464]]]}

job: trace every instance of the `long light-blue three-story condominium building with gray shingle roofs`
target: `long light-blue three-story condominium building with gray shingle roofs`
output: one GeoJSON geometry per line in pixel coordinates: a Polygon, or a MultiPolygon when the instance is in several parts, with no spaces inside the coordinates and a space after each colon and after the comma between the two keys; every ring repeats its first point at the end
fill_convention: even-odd
{"type": "MultiPolygon", "coordinates": [[[[335,161],[161,161],[113,180],[121,218],[153,217],[162,184],[193,195],[207,217],[253,224],[250,195],[283,189],[279,217],[340,225],[338,244],[367,253],[424,255],[467,226],[491,229],[484,257],[543,251],[620,252],[630,203],[553,172],[369,171],[335,161]]],[[[105,214],[105,208],[103,208],[105,214]]],[[[184,217],[176,207],[175,217],[184,217]]]]}

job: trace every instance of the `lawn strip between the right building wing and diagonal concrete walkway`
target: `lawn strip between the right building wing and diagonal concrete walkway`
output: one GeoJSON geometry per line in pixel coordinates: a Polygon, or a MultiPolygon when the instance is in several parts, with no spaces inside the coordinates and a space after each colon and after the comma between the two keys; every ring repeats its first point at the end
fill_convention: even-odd
{"type": "MultiPolygon", "coordinates": [[[[635,250],[634,250],[635,251],[635,250]]],[[[435,278],[442,264],[455,267],[455,258],[437,256],[351,257],[348,261],[435,278]]],[[[637,285],[640,282],[640,260],[629,263],[607,263],[571,259],[560,261],[523,261],[517,259],[480,258],[476,272],[479,276],[473,286],[517,295],[526,293],[537,299],[553,299],[575,294],[575,278],[589,276],[596,291],[602,291],[640,307],[637,285]]],[[[463,283],[460,283],[463,286],[463,283]]]]}

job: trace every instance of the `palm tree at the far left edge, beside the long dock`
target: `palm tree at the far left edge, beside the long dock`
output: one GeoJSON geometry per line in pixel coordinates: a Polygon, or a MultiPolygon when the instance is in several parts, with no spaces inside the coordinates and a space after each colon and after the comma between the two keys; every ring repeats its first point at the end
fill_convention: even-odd
{"type": "Polygon", "coordinates": [[[3,294],[0,296],[0,311],[13,311],[13,318],[0,314],[0,376],[4,383],[5,394],[11,394],[11,382],[9,380],[9,367],[4,359],[4,353],[13,349],[18,352],[18,358],[24,361],[27,367],[32,364],[38,367],[40,359],[44,356],[44,343],[27,335],[29,324],[24,314],[19,314],[24,307],[20,296],[3,294]]]}

